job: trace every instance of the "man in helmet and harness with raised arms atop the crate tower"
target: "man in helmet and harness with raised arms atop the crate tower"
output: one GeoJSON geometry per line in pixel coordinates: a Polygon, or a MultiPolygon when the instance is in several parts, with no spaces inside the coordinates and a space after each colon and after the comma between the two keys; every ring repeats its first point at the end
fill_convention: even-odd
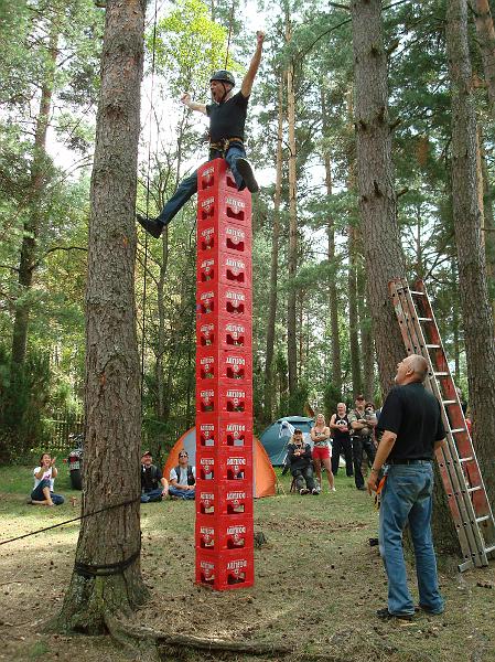
{"type": "MultiPolygon", "coordinates": [[[[244,126],[252,83],[261,62],[265,33],[258,31],[256,40],[256,51],[243,79],[240,92],[233,93],[236,84],[233,74],[220,70],[212,74],[209,78],[213,104],[196,104],[191,99],[189,93],[185,93],[181,98],[181,102],[191,110],[203,113],[209,117],[209,160],[224,158],[232,170],[237,189],[241,191],[247,188],[251,193],[256,193],[259,186],[252,168],[246,159],[244,126]]],[[[157,218],[147,218],[140,214],[137,214],[136,217],[150,235],[158,238],[164,226],[172,221],[196,191],[197,171],[179,184],[177,190],[157,218]]]]}

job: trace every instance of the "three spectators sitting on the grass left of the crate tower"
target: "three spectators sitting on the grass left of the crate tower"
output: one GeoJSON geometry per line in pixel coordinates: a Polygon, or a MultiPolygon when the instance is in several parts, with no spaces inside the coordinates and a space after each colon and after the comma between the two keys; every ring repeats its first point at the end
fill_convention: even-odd
{"type": "MultiPolygon", "coordinates": [[[[54,484],[58,474],[55,467],[56,458],[44,452],[40,465],[33,470],[34,487],[28,502],[32,505],[62,505],[65,499],[55,494],[54,484]]],[[[141,456],[141,503],[170,499],[194,499],[196,489],[196,470],[189,463],[186,450],[179,452],[179,465],[171,469],[166,480],[157,465],[153,465],[151,451],[146,450],[141,456]]]]}

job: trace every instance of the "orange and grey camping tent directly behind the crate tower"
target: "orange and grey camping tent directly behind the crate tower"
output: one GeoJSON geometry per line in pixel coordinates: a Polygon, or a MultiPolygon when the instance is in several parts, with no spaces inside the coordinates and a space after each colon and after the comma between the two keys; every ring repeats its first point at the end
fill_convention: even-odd
{"type": "MultiPolygon", "coordinates": [[[[179,465],[179,451],[185,449],[189,453],[191,465],[196,462],[196,428],[192,427],[175,442],[174,447],[166,458],[163,476],[169,480],[170,471],[179,465]]],[[[261,496],[273,496],[276,493],[276,476],[273,467],[265,451],[265,448],[259,442],[259,439],[254,437],[254,476],[256,499],[261,496]]]]}

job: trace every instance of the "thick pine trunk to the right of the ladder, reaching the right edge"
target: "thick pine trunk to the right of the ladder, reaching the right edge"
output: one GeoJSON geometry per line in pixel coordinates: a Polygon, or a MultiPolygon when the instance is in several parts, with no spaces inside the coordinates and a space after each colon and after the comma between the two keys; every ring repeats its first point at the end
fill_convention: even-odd
{"type": "Polygon", "coordinates": [[[446,47],[452,98],[452,202],[460,299],[473,415],[473,441],[492,504],[495,498],[495,339],[481,237],[477,189],[476,116],[467,42],[465,0],[450,0],[446,47]]]}

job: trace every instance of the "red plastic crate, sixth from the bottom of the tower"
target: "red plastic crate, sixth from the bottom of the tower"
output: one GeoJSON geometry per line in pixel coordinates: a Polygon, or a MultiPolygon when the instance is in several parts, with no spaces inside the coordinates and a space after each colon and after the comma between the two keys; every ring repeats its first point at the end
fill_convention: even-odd
{"type": "Polygon", "coordinates": [[[217,380],[196,382],[197,414],[216,414],[234,417],[233,421],[252,418],[252,386],[249,384],[229,384],[217,380]]]}

